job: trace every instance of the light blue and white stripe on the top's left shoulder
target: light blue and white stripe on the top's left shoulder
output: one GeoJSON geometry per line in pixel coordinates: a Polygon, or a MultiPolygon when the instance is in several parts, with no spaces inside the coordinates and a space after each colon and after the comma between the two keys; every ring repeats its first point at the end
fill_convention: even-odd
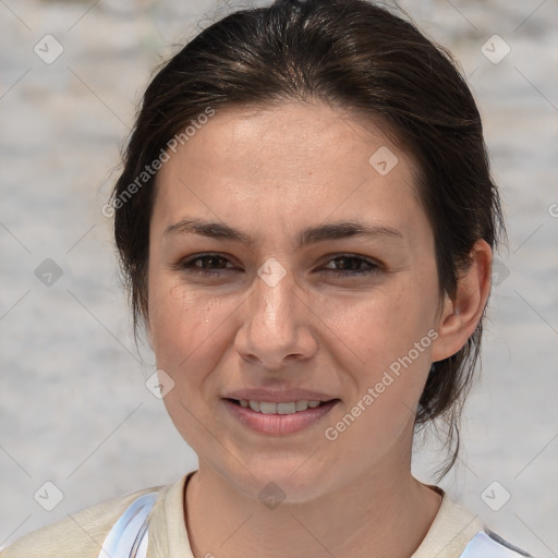
{"type": "Polygon", "coordinates": [[[147,515],[157,497],[158,493],[147,493],[128,507],[109,531],[97,558],[146,558],[147,515]]]}

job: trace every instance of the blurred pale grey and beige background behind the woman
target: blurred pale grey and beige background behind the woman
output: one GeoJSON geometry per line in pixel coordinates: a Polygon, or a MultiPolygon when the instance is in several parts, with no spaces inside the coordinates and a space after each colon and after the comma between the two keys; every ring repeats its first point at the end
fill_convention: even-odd
{"type": "MultiPolygon", "coordinates": [[[[0,0],[0,548],[197,466],[146,388],[155,360],[134,343],[101,208],[151,71],[250,3],[268,2],[0,0]]],[[[558,2],[399,5],[461,63],[509,232],[464,451],[440,485],[558,557],[558,2]]],[[[440,453],[416,451],[434,483],[440,453]]]]}

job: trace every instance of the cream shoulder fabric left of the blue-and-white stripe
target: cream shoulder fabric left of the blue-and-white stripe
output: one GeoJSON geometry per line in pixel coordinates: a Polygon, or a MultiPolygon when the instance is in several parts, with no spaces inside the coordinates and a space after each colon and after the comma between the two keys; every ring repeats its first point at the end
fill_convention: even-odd
{"type": "Polygon", "coordinates": [[[0,550],[0,558],[97,558],[105,537],[126,508],[140,496],[160,493],[155,486],[121,496],[45,526],[0,550]]]}

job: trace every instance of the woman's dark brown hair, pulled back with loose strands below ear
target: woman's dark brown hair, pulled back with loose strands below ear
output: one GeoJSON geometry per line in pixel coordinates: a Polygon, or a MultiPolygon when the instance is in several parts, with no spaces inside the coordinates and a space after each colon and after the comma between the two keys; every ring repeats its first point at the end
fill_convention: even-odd
{"type": "MultiPolygon", "coordinates": [[[[208,108],[289,100],[317,100],[365,114],[387,124],[410,149],[435,235],[441,294],[454,295],[476,240],[495,247],[505,236],[481,118],[451,54],[407,17],[365,0],[277,0],[204,29],[145,92],[111,198],[135,331],[147,316],[156,173],[141,184],[137,177],[208,108]],[[125,196],[133,183],[133,195],[125,196]]],[[[421,397],[416,426],[437,417],[447,426],[452,451],[441,476],[457,459],[459,417],[480,354],[482,322],[459,352],[433,366],[421,397]]]]}

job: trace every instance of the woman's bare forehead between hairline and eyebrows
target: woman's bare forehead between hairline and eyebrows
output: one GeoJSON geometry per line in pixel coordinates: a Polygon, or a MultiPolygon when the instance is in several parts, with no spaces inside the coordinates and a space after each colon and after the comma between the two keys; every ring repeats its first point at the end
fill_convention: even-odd
{"type": "Polygon", "coordinates": [[[320,104],[217,110],[169,155],[157,178],[161,227],[183,213],[293,232],[329,217],[405,226],[421,211],[412,158],[377,125],[320,104]]]}

